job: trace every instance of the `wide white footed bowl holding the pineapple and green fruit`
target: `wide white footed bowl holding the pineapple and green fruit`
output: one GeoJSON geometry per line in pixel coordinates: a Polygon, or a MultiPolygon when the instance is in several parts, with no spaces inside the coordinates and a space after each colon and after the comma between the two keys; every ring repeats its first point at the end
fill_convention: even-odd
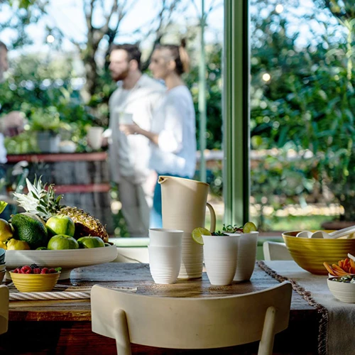
{"type": "MultiPolygon", "coordinates": [[[[66,250],[8,250],[6,251],[6,271],[11,271],[18,266],[36,263],[41,268],[57,268],[60,266],[60,280],[70,278],[73,268],[109,263],[117,256],[116,246],[90,249],[66,250]]],[[[9,272],[6,278],[10,279],[9,272]]]]}

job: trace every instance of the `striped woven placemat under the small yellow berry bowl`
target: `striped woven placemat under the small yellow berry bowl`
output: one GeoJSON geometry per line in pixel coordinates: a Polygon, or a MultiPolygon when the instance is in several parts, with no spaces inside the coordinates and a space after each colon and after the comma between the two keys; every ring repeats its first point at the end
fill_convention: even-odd
{"type": "MultiPolygon", "coordinates": [[[[85,300],[90,298],[92,286],[70,286],[55,285],[50,292],[18,292],[13,283],[7,285],[10,291],[10,301],[31,301],[31,300],[85,300]]],[[[137,288],[110,287],[113,290],[136,292],[137,288]]]]}

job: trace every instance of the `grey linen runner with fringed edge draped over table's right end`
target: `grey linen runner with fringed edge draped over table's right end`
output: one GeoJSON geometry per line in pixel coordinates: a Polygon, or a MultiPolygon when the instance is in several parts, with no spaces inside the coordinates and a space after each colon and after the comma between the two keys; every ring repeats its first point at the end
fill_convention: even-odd
{"type": "Polygon", "coordinates": [[[332,295],[326,275],[308,273],[295,261],[259,261],[258,265],[279,281],[289,280],[293,289],[320,312],[320,355],[355,354],[355,305],[332,295]]]}

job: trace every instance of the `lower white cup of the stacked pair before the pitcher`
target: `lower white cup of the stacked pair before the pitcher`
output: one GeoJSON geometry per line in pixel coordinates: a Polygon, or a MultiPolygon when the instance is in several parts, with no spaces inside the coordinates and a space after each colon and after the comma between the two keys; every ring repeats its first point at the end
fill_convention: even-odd
{"type": "Polygon", "coordinates": [[[149,268],[155,283],[175,283],[180,273],[180,246],[148,246],[149,268]]]}

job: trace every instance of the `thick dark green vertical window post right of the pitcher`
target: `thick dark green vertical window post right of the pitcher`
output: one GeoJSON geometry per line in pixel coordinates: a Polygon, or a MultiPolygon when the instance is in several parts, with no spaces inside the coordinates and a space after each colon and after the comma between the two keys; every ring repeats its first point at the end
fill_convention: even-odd
{"type": "Polygon", "coordinates": [[[224,223],[249,220],[249,0],[224,0],[224,223]]]}

